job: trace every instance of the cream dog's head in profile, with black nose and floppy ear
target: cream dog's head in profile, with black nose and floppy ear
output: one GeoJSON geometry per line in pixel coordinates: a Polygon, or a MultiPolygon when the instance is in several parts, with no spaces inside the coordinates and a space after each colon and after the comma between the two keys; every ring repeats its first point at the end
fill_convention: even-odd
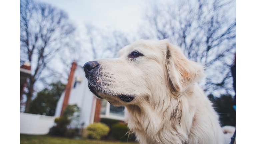
{"type": "Polygon", "coordinates": [[[178,96],[203,75],[168,40],[138,40],[119,51],[119,58],[84,65],[89,89],[113,105],[136,104],[166,95],[178,96]]]}

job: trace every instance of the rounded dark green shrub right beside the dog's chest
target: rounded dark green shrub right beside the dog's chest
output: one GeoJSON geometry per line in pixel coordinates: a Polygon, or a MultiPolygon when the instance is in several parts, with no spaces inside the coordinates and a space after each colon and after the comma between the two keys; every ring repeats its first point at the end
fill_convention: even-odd
{"type": "Polygon", "coordinates": [[[127,124],[117,123],[112,125],[111,127],[112,134],[117,140],[121,141],[129,141],[131,140],[131,136],[129,134],[126,134],[130,129],[127,127],[127,124]]]}

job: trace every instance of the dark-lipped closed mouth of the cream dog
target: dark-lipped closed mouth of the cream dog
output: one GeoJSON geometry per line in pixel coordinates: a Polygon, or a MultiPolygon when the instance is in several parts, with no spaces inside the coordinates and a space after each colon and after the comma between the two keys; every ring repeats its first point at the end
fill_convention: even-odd
{"type": "MultiPolygon", "coordinates": [[[[101,91],[101,90],[99,90],[99,89],[96,89],[94,86],[89,85],[89,84],[88,84],[88,87],[89,87],[90,91],[91,91],[94,95],[96,95],[98,98],[103,99],[101,96],[99,96],[98,93],[105,93],[105,92],[103,92],[103,91],[101,91]]],[[[109,93],[105,93],[105,94],[111,95],[111,94],[109,94],[109,93]]],[[[132,96],[132,95],[124,95],[124,94],[112,95],[112,96],[118,96],[118,97],[119,97],[122,101],[124,101],[124,102],[131,102],[131,101],[135,98],[135,96],[132,96]]]]}

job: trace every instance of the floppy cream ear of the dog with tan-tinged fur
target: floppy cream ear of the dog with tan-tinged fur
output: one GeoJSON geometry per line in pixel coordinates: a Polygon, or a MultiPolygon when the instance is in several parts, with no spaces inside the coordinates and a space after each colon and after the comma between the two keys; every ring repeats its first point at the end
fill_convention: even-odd
{"type": "Polygon", "coordinates": [[[178,46],[167,43],[166,65],[173,94],[180,95],[203,76],[202,65],[189,61],[178,46]]]}

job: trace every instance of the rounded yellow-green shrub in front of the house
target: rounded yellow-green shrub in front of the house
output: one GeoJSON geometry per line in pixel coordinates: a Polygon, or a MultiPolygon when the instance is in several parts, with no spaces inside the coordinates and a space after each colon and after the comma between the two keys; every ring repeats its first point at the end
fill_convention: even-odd
{"type": "Polygon", "coordinates": [[[109,127],[104,123],[93,123],[87,126],[89,138],[99,140],[109,132],[109,127]]]}

